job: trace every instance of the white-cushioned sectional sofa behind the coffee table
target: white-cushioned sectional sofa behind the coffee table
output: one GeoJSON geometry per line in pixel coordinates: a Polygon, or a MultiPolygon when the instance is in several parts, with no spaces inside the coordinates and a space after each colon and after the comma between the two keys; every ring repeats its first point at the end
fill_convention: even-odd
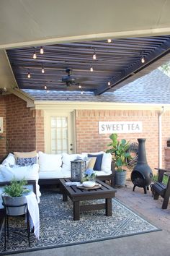
{"type": "MultiPolygon", "coordinates": [[[[36,183],[42,184],[58,184],[60,178],[71,178],[71,161],[77,158],[88,158],[86,161],[86,168],[88,168],[91,158],[97,163],[97,159],[102,155],[102,161],[98,164],[97,170],[94,171],[97,174],[97,179],[106,181],[110,180],[111,185],[115,184],[115,170],[112,168],[112,155],[110,153],[104,153],[103,151],[98,153],[90,153],[92,157],[88,158],[88,153],[81,154],[46,154],[39,152],[37,154],[37,163],[32,166],[18,166],[16,165],[16,158],[12,153],[6,157],[6,159],[0,165],[0,181],[9,182],[13,176],[16,179],[36,180],[36,183]],[[101,167],[101,169],[99,169],[101,167]]],[[[94,164],[94,167],[95,167],[94,164]]],[[[37,195],[39,194],[39,187],[37,186],[37,195]]]]}

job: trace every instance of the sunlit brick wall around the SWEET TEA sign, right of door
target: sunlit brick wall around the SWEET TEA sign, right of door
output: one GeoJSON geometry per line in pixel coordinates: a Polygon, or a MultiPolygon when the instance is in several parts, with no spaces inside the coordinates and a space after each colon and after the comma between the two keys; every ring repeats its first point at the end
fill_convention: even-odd
{"type": "MultiPolygon", "coordinates": [[[[158,167],[158,112],[157,111],[122,111],[122,110],[79,110],[76,111],[77,151],[97,152],[106,150],[109,134],[98,132],[99,121],[142,121],[142,133],[118,134],[119,139],[138,142],[137,138],[146,138],[146,155],[151,168],[158,167]]],[[[167,119],[168,121],[168,119],[167,119]]],[[[170,133],[169,133],[170,134],[170,133]]],[[[164,128],[166,142],[166,128],[164,128]]]]}

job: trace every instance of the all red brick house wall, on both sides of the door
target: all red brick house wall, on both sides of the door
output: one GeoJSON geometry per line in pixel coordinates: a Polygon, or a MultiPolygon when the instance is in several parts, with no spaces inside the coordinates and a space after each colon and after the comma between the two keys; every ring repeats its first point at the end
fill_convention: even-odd
{"type": "MultiPolygon", "coordinates": [[[[30,110],[26,102],[15,95],[0,96],[0,116],[4,117],[3,139],[0,140],[0,160],[6,153],[41,150],[44,152],[44,116],[42,110],[30,110]]],[[[107,150],[109,134],[99,135],[99,121],[143,121],[143,132],[118,134],[137,142],[138,137],[146,137],[148,164],[158,167],[158,111],[130,110],[77,110],[76,148],[77,153],[107,150]]],[[[1,134],[0,134],[1,135],[1,134]]],[[[162,161],[164,147],[170,138],[170,111],[162,115],[162,161]]]]}

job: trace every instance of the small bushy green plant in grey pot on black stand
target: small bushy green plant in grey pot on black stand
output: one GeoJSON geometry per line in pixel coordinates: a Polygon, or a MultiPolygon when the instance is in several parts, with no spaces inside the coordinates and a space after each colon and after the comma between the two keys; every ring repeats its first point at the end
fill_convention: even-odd
{"type": "Polygon", "coordinates": [[[7,207],[7,214],[11,216],[18,216],[26,213],[27,209],[25,206],[17,207],[25,203],[24,194],[30,192],[30,189],[24,187],[27,182],[22,179],[17,181],[15,179],[10,182],[10,185],[4,187],[4,192],[1,194],[2,201],[5,205],[16,205],[16,207],[7,207]]]}

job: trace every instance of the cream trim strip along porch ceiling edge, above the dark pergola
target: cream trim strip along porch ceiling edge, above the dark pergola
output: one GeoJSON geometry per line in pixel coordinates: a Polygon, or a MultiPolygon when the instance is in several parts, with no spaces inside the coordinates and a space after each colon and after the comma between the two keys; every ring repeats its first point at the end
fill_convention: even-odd
{"type": "Polygon", "coordinates": [[[20,48],[25,46],[41,46],[53,43],[68,43],[68,42],[78,42],[81,40],[102,40],[107,38],[129,38],[138,36],[153,36],[153,35],[169,35],[170,27],[160,27],[160,28],[150,28],[146,30],[128,30],[128,31],[118,31],[112,33],[97,33],[90,35],[73,35],[66,36],[63,38],[48,38],[42,40],[32,40],[27,42],[18,43],[5,43],[0,45],[0,49],[8,48],[20,48]]]}

